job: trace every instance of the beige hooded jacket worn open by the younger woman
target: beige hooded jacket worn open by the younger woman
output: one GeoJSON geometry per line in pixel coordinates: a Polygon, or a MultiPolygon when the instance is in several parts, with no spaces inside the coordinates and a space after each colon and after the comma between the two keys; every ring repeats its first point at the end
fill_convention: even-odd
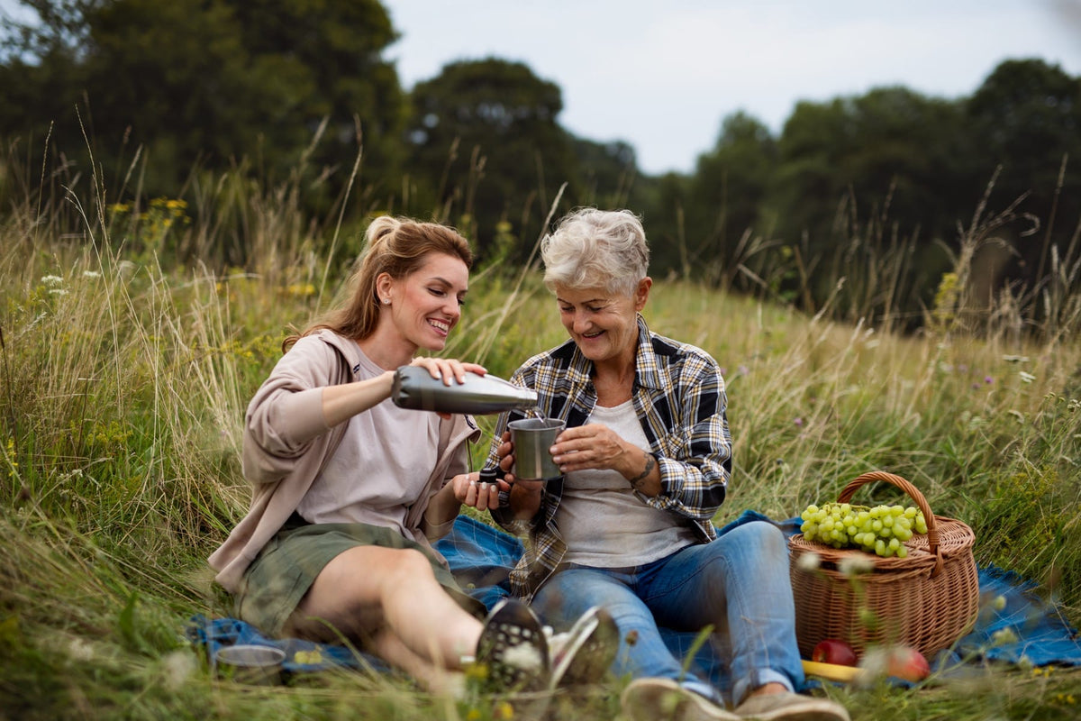
{"type": "MultiPolygon", "coordinates": [[[[238,590],[244,571],[296,510],[345,435],[347,423],[326,426],[322,389],[352,382],[358,353],[355,343],[331,331],[305,336],[278,361],[249,403],[242,466],[253,486],[251,508],[209,559],[218,572],[215,580],[229,592],[238,590]]],[[[469,470],[466,441],[477,441],[480,435],[470,416],[455,415],[439,424],[436,467],[405,517],[423,543],[450,531],[450,523],[428,528],[424,511],[446,481],[469,470]]]]}

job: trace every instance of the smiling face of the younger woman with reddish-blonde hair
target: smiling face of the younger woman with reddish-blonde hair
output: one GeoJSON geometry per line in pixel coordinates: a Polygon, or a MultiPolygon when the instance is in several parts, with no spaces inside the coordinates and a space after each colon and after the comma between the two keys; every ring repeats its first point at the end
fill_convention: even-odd
{"type": "Polygon", "coordinates": [[[462,258],[445,253],[429,253],[409,276],[393,279],[382,275],[376,280],[379,297],[401,339],[415,348],[442,350],[446,336],[462,318],[462,306],[469,290],[469,269],[462,258]]]}

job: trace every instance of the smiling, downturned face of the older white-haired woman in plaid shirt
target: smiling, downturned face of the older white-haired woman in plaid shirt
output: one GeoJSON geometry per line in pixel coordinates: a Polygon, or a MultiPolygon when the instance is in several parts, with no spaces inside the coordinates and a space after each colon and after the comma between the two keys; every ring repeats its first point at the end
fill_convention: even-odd
{"type": "Polygon", "coordinates": [[[638,311],[645,306],[653,281],[643,278],[631,295],[604,288],[555,286],[563,328],[595,365],[620,365],[635,360],[638,311]]]}

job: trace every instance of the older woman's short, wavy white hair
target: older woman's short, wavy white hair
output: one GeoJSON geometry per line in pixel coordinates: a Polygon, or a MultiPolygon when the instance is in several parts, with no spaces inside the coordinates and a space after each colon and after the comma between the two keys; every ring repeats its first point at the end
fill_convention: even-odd
{"type": "Polygon", "coordinates": [[[630,295],[645,278],[650,248],[642,222],[630,211],[580,208],[540,241],[540,258],[548,290],[603,288],[630,295]]]}

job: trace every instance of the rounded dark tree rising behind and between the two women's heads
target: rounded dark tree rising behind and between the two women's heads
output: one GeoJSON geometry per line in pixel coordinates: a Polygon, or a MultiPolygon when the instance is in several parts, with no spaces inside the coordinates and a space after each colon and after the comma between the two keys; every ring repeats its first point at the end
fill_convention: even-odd
{"type": "Polygon", "coordinates": [[[559,86],[489,57],[451,63],[411,96],[409,166],[422,206],[472,230],[482,254],[496,225],[510,223],[524,259],[560,185],[572,185],[564,209],[582,196],[571,136],[556,120],[559,86]]]}

